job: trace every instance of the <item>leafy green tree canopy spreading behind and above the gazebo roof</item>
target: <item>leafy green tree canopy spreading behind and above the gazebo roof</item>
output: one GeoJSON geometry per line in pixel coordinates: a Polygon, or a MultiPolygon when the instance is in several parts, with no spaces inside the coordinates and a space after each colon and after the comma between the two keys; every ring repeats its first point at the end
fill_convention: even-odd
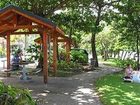
{"type": "Polygon", "coordinates": [[[57,23],[74,40],[75,47],[86,47],[92,52],[96,67],[96,49],[125,48],[137,51],[139,56],[139,0],[2,0],[0,7],[9,4],[57,23]]]}

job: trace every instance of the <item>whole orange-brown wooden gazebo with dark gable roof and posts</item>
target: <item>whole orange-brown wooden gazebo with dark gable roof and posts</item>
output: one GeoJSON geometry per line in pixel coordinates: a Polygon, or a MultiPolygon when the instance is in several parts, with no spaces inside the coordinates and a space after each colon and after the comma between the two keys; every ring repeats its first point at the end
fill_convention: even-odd
{"type": "Polygon", "coordinates": [[[53,68],[57,70],[57,43],[66,43],[67,61],[70,60],[71,40],[65,36],[51,20],[37,16],[32,12],[17,6],[9,5],[0,10],[0,37],[7,41],[7,69],[10,69],[10,36],[23,34],[40,34],[43,46],[43,75],[44,83],[48,81],[48,38],[53,43],[53,68]],[[19,31],[24,29],[26,31],[19,31]]]}

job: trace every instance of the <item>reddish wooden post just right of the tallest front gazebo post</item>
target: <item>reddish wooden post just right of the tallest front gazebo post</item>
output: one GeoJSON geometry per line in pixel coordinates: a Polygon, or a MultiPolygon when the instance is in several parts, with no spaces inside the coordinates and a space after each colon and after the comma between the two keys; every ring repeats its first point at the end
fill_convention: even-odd
{"type": "Polygon", "coordinates": [[[53,69],[54,75],[56,75],[57,70],[57,37],[53,37],[53,69]]]}

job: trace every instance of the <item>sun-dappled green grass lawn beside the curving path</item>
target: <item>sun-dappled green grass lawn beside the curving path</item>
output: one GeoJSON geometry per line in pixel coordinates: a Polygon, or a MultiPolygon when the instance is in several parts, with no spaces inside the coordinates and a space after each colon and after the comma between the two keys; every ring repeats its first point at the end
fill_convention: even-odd
{"type": "Polygon", "coordinates": [[[140,104],[140,84],[123,82],[122,74],[115,73],[97,80],[97,91],[104,105],[140,104]]]}

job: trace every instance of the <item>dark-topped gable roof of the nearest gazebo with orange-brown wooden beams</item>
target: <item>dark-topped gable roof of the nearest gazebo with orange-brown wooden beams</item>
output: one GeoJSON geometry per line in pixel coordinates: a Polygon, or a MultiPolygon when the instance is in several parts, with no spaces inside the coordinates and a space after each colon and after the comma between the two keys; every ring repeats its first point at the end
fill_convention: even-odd
{"type": "Polygon", "coordinates": [[[54,31],[55,34],[59,34],[58,36],[69,40],[69,38],[65,36],[64,32],[51,20],[35,15],[32,12],[14,5],[9,5],[0,10],[0,37],[5,36],[7,32],[12,33],[18,29],[30,29],[32,27],[38,28],[38,26],[33,25],[33,23],[40,26],[40,28],[54,31]]]}

